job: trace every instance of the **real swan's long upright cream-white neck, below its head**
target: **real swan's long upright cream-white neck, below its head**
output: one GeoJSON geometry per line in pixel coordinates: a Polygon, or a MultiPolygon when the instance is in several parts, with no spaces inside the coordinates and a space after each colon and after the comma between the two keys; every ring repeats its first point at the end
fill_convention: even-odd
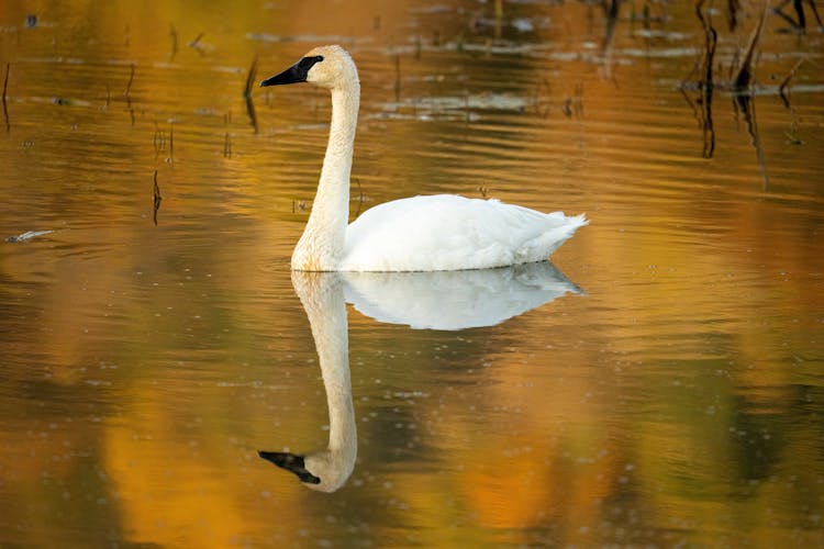
{"type": "Polygon", "coordinates": [[[349,221],[349,175],[359,103],[357,76],[332,89],[329,145],[312,213],[292,253],[294,270],[332,271],[341,262],[349,221]]]}

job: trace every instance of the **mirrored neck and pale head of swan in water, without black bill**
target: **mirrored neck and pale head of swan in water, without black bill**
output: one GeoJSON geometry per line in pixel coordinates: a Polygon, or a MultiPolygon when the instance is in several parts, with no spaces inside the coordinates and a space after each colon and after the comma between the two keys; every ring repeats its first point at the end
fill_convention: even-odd
{"type": "Polygon", "coordinates": [[[330,415],[329,448],[307,456],[305,467],[321,479],[310,488],[334,491],[349,478],[357,457],[343,281],[338,273],[293,271],[292,284],[312,327],[330,415]]]}

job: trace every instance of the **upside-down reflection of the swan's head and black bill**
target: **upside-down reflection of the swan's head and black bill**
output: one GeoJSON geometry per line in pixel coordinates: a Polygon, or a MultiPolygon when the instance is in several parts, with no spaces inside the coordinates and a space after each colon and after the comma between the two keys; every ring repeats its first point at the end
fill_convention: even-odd
{"type": "Polygon", "coordinates": [[[305,486],[319,492],[334,492],[339,489],[355,468],[355,455],[347,451],[324,450],[308,456],[258,451],[257,455],[294,473],[305,486]]]}

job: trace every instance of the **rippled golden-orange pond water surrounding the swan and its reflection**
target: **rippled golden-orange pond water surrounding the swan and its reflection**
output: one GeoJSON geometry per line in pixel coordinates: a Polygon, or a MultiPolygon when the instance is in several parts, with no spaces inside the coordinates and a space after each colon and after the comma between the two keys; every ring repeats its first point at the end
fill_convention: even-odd
{"type": "Polygon", "coordinates": [[[493,8],[7,2],[0,236],[49,233],[0,244],[0,544],[824,542],[822,34],[770,14],[736,109],[760,11],[719,8],[710,131],[692,7],[493,8]],[[586,212],[555,293],[485,326],[494,302],[456,289],[512,282],[323,282],[350,370],[319,363],[288,262],[327,97],[254,89],[255,133],[242,92],[256,55],[260,79],[327,42],[361,77],[353,216],[436,192],[586,212]],[[409,326],[441,284],[472,327],[409,326]],[[327,397],[357,458],[319,493],[257,451],[323,450],[327,397]]]}

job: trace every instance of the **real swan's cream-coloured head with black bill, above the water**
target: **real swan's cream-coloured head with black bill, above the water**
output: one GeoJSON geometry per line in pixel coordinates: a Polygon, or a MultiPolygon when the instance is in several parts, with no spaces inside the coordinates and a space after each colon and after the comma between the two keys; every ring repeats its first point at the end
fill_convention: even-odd
{"type": "Polygon", "coordinates": [[[341,46],[320,46],[282,72],[263,80],[260,87],[297,82],[344,89],[358,85],[358,72],[346,49],[341,46]]]}

